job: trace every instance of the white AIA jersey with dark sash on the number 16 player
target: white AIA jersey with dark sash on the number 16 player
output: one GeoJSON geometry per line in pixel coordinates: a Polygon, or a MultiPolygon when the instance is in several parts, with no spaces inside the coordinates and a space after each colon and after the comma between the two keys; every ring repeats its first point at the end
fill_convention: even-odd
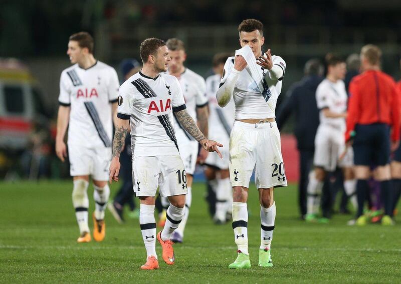
{"type": "Polygon", "coordinates": [[[119,90],[117,117],[130,119],[134,158],[179,155],[173,112],[185,108],[174,76],[150,78],[139,72],[125,81],[119,90]]]}

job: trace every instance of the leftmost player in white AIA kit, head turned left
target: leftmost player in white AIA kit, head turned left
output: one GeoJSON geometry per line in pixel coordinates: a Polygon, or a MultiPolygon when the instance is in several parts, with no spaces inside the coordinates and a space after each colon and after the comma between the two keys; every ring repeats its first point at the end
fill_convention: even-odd
{"type": "Polygon", "coordinates": [[[91,241],[87,194],[90,175],[95,189],[93,238],[102,241],[106,228],[104,210],[110,195],[107,180],[118,77],[112,67],[94,58],[93,38],[86,32],[70,37],[67,55],[74,65],[61,73],[56,153],[64,162],[67,157],[64,136],[68,127],[70,174],[74,181],[72,201],[80,231],[77,241],[91,241]]]}

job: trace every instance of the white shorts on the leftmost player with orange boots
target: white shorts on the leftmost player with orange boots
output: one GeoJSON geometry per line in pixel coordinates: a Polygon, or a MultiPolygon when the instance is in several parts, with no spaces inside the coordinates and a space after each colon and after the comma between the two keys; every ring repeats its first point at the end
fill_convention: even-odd
{"type": "Polygon", "coordinates": [[[91,175],[94,180],[109,180],[111,154],[111,147],[68,145],[70,175],[91,175]]]}

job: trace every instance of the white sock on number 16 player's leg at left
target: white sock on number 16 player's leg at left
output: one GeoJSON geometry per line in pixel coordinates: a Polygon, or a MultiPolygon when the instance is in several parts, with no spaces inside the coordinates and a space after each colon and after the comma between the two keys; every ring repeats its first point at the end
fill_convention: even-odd
{"type": "Polygon", "coordinates": [[[156,220],[154,218],[154,205],[140,204],[139,225],[141,227],[143,243],[148,256],[156,254],[156,220]]]}

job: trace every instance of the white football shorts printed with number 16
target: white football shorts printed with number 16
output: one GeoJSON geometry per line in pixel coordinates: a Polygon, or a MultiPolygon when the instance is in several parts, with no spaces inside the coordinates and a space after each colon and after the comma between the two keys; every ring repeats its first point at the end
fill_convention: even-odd
{"type": "Polygon", "coordinates": [[[139,156],[132,160],[136,196],[155,196],[157,186],[161,197],[187,194],[186,174],[181,157],[139,156]]]}

